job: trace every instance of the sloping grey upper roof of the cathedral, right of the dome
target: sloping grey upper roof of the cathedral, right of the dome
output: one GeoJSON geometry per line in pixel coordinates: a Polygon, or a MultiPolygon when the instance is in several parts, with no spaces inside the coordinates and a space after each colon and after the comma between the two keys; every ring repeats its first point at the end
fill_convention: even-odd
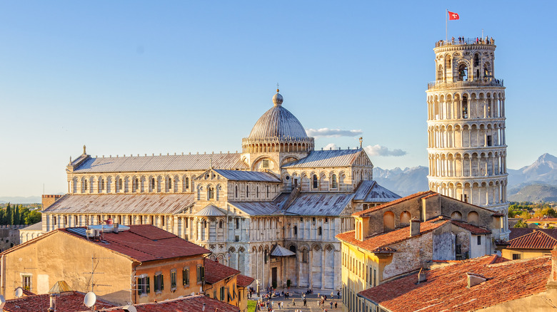
{"type": "Polygon", "coordinates": [[[308,157],[283,165],[283,168],[348,167],[360,155],[357,150],[312,150],[308,157]]]}

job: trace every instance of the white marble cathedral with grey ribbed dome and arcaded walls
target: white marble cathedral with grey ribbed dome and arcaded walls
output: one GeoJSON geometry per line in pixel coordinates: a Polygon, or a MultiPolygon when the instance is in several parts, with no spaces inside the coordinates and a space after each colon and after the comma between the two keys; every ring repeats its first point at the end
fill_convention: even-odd
{"type": "Polygon", "coordinates": [[[86,153],[66,166],[68,193],[46,195],[43,232],[92,224],[154,224],[204,246],[261,287],[341,288],[351,214],[400,198],[373,181],[360,147],[315,150],[298,119],[273,106],[236,153],[86,153]]]}

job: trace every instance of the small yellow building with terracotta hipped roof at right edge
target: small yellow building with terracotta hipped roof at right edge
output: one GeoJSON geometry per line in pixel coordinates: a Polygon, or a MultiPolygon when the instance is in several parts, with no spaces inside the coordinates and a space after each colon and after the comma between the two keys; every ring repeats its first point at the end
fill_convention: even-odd
{"type": "MultiPolygon", "coordinates": [[[[513,232],[511,229],[511,238],[513,232]]],[[[522,229],[520,229],[522,230],[522,229]]],[[[536,256],[551,255],[553,247],[557,246],[557,230],[552,229],[524,229],[527,234],[508,241],[508,246],[501,251],[503,258],[509,260],[535,258],[536,256]]]]}

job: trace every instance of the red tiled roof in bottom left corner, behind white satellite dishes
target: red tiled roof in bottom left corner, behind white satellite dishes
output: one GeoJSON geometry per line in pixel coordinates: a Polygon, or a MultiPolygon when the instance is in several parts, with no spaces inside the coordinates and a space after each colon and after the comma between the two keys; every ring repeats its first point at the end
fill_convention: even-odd
{"type": "MultiPolygon", "coordinates": [[[[60,293],[56,296],[56,311],[57,312],[75,312],[84,311],[87,309],[84,306],[83,299],[85,298],[85,293],[79,291],[70,291],[66,293],[60,293]]],[[[50,298],[48,293],[42,295],[34,296],[24,296],[21,298],[6,300],[6,305],[4,306],[5,312],[46,312],[50,306],[50,298]]],[[[115,304],[109,303],[108,301],[103,301],[97,299],[96,308],[110,308],[116,306],[115,304]]]]}

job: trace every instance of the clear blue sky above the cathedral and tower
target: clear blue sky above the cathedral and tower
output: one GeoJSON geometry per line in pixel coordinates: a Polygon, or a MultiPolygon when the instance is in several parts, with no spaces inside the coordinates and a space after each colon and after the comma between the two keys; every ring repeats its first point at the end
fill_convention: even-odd
{"type": "Polygon", "coordinates": [[[321,129],[316,148],[361,135],[376,167],[427,165],[446,9],[461,16],[449,37],[496,40],[508,167],[557,155],[556,4],[424,2],[0,1],[0,196],[66,192],[84,144],[93,156],[241,150],[276,83],[321,129]]]}

